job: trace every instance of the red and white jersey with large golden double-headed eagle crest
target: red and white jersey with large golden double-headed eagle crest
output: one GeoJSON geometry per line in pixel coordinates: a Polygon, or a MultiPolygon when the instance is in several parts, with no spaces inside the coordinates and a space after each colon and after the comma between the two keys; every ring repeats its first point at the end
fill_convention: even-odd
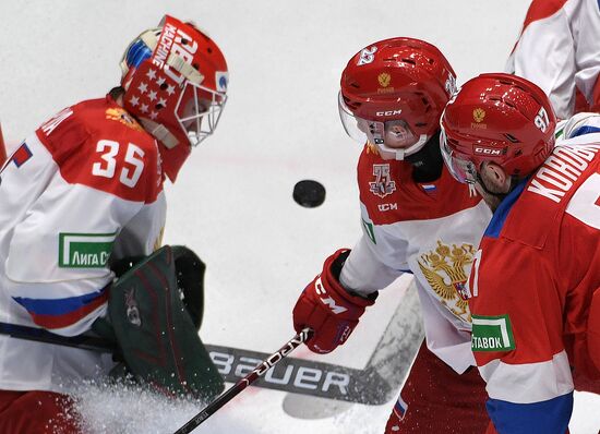
{"type": "Polygon", "coordinates": [[[368,294],[412,273],[428,347],[463,373],[475,365],[465,284],[491,212],[445,166],[436,181],[418,183],[409,162],[384,160],[371,145],[361,154],[358,183],[363,236],[340,282],[368,294]]]}

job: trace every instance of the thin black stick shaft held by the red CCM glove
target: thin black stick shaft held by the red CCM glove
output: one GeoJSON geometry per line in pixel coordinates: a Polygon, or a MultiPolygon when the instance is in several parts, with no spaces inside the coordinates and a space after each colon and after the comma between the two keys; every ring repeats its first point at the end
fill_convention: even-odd
{"type": "Polygon", "coordinates": [[[252,371],[250,374],[248,374],[238,383],[236,383],[233,386],[231,386],[223,395],[217,397],[213,402],[206,406],[194,418],[190,419],[190,421],[188,421],[188,423],[185,423],[183,426],[177,430],[175,434],[188,434],[194,431],[202,422],[204,422],[206,419],[213,415],[218,409],[220,409],[223,406],[229,402],[240,391],[245,389],[248,386],[250,386],[252,383],[259,379],[262,375],[264,375],[278,361],[284,359],[287,354],[289,354],[296,348],[300,347],[303,342],[305,342],[311,337],[311,335],[312,335],[312,330],[310,328],[304,328],[302,331],[300,331],[298,335],[291,338],[285,346],[283,346],[279,349],[279,351],[274,352],[268,358],[263,360],[263,362],[259,364],[254,369],[254,371],[252,371]]]}

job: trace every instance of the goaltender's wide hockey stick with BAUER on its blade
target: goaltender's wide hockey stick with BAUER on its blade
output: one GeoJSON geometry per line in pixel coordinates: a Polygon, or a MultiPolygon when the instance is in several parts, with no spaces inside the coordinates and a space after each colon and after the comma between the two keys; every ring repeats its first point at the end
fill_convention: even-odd
{"type": "MultiPolygon", "coordinates": [[[[95,336],[64,337],[50,331],[22,325],[0,323],[0,334],[13,338],[53,343],[91,351],[113,352],[113,342],[95,336]]],[[[311,398],[380,406],[397,395],[423,339],[421,311],[415,288],[403,296],[401,303],[387,324],[371,358],[362,369],[286,357],[252,384],[293,394],[304,399],[302,406],[315,406],[311,398]],[[305,373],[310,372],[310,376],[305,373]],[[311,403],[312,402],[312,403],[311,403]]],[[[269,357],[242,348],[205,343],[211,359],[224,379],[237,383],[262,360],[269,357]]]]}

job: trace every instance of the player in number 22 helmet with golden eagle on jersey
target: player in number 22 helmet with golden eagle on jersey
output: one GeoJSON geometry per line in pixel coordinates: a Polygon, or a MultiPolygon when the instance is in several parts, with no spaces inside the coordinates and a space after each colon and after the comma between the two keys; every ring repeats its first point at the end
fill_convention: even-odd
{"type": "Polygon", "coordinates": [[[295,328],[314,330],[308,347],[327,353],[348,339],[380,289],[415,275],[427,345],[392,411],[389,434],[482,434],[489,424],[463,292],[491,214],[442,160],[440,116],[455,80],[437,48],[412,38],[381,40],[350,59],[339,110],[347,133],[364,146],[363,233],[352,250],[326,258],[293,309],[295,328]]]}

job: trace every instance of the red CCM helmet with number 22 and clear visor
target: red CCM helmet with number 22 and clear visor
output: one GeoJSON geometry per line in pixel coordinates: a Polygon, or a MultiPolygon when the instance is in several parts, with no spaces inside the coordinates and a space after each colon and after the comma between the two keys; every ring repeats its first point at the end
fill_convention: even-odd
{"type": "Polygon", "coordinates": [[[456,74],[433,45],[385,39],[367,46],[346,65],[339,114],[352,138],[404,159],[440,129],[440,116],[455,91],[456,74]]]}

